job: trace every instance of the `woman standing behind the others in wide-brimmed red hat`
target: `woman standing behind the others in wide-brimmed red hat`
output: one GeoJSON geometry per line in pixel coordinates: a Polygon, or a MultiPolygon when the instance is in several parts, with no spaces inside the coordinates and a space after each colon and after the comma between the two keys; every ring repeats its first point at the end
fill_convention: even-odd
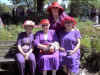
{"type": "Polygon", "coordinates": [[[50,20],[50,29],[59,30],[63,28],[61,26],[61,21],[64,17],[68,16],[64,12],[64,8],[58,4],[58,2],[53,2],[48,8],[49,13],[48,19],[50,20]]]}

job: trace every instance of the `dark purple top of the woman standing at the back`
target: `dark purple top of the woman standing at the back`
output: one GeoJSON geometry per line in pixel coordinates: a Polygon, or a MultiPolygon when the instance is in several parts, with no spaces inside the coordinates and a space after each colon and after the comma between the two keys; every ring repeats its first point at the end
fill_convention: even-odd
{"type": "Polygon", "coordinates": [[[57,21],[54,20],[52,16],[49,16],[50,21],[50,29],[59,30],[61,28],[61,21],[64,19],[64,17],[68,16],[65,12],[62,12],[59,15],[59,18],[57,21]]]}

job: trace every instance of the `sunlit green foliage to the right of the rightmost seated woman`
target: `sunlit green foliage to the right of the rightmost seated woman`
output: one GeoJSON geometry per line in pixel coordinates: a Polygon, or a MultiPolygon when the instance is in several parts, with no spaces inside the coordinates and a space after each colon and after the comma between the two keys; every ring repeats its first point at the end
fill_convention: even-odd
{"type": "Polygon", "coordinates": [[[100,30],[97,30],[93,27],[93,22],[87,20],[86,22],[81,22],[79,19],[76,19],[77,27],[80,30],[82,35],[81,45],[85,46],[88,49],[92,47],[96,51],[100,51],[100,30]],[[92,41],[93,38],[93,42],[92,41]]]}

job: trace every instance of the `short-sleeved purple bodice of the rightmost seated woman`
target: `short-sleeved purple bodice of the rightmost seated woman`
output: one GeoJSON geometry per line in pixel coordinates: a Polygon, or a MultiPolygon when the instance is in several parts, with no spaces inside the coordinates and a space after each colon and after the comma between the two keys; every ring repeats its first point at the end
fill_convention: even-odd
{"type": "Polygon", "coordinates": [[[77,39],[81,38],[80,31],[73,30],[71,32],[60,31],[60,45],[66,50],[73,50],[77,45],[77,39]]]}

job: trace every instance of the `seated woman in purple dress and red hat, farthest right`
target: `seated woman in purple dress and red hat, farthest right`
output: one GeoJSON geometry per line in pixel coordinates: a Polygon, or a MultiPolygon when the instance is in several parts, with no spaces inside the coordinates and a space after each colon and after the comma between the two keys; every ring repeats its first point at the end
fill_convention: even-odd
{"type": "Polygon", "coordinates": [[[80,65],[80,32],[73,29],[76,21],[72,17],[65,17],[62,21],[65,29],[59,32],[60,36],[60,54],[64,64],[67,67],[68,75],[78,75],[80,65]]]}

